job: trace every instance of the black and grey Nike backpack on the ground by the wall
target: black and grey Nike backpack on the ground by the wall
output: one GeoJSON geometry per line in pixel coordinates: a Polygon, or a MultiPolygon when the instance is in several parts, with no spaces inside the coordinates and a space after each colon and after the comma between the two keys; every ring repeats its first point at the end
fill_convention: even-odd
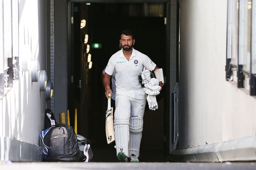
{"type": "Polygon", "coordinates": [[[71,126],[56,124],[40,133],[43,155],[51,162],[84,162],[86,157],[80,151],[76,134],[71,126]]]}

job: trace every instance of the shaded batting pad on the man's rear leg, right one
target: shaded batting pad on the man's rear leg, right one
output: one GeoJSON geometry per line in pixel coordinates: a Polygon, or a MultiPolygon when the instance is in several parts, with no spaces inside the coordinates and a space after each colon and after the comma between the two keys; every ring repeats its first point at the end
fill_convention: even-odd
{"type": "Polygon", "coordinates": [[[143,118],[134,116],[130,118],[130,141],[129,141],[129,156],[134,154],[139,157],[140,140],[143,130],[143,118]]]}

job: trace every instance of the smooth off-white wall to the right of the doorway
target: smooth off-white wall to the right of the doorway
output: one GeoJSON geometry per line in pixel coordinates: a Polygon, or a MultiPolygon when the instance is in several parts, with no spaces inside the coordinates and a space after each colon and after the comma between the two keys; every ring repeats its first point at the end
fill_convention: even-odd
{"type": "Polygon", "coordinates": [[[227,1],[180,1],[180,147],[256,135],[256,98],[225,80],[227,1]]]}

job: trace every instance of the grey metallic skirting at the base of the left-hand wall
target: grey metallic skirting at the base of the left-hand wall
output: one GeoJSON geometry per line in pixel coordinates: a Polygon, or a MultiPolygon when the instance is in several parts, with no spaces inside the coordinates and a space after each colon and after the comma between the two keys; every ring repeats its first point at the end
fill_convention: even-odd
{"type": "Polygon", "coordinates": [[[43,161],[42,146],[27,142],[0,137],[0,160],[12,162],[35,162],[43,161]]]}

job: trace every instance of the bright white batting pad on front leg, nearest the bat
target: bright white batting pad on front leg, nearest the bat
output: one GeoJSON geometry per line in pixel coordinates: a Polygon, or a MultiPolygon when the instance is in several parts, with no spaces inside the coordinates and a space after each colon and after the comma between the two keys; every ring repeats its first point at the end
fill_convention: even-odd
{"type": "Polygon", "coordinates": [[[115,110],[115,138],[116,138],[116,154],[124,152],[128,156],[129,144],[129,117],[131,111],[126,106],[119,106],[115,110]]]}

